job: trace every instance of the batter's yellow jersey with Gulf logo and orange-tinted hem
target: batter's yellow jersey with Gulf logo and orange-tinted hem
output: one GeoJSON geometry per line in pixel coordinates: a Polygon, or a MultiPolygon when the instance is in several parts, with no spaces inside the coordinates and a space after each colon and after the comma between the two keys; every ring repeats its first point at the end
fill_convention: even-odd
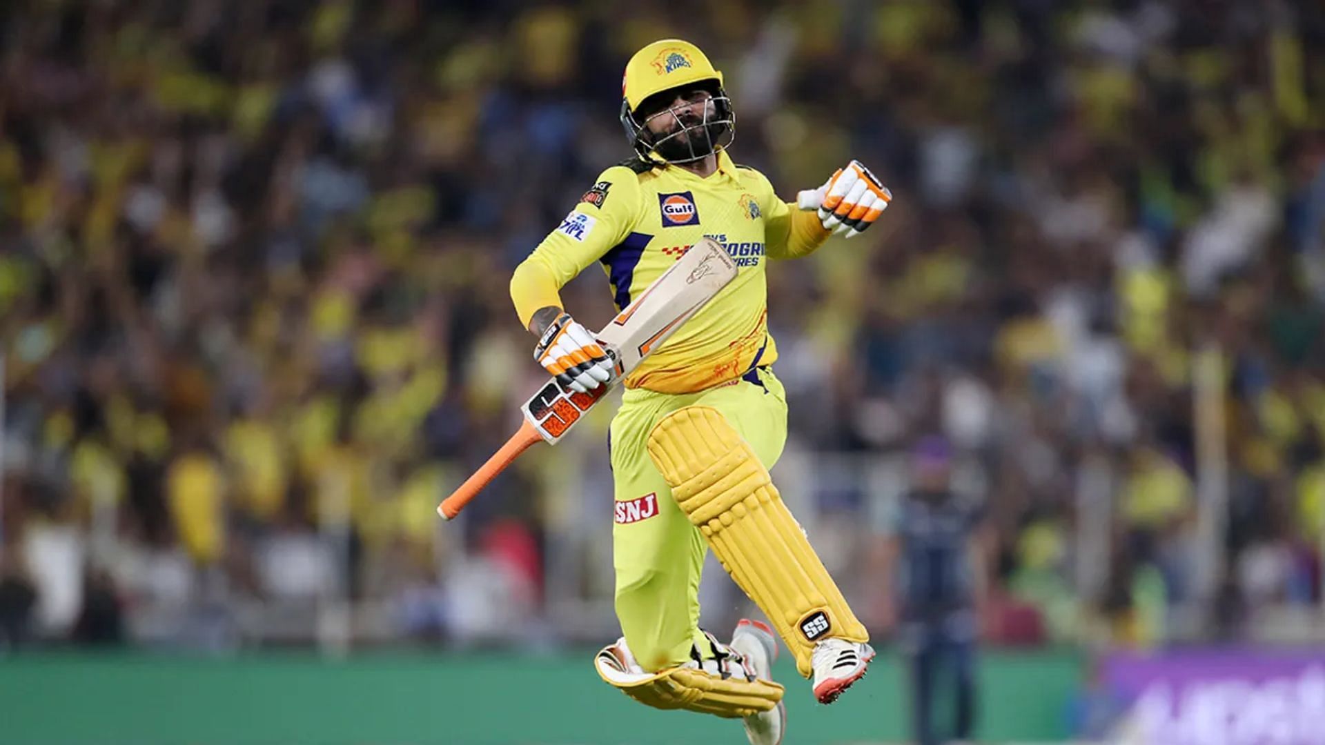
{"type": "Polygon", "coordinates": [[[701,391],[778,359],[768,334],[770,258],[804,256],[828,231],[814,212],[780,200],[763,174],[718,152],[718,170],[698,176],[640,159],[603,171],[579,204],[511,277],[525,326],[556,290],[591,264],[607,274],[617,310],[704,236],[721,243],[737,278],[624,380],[665,394],[701,391]]]}

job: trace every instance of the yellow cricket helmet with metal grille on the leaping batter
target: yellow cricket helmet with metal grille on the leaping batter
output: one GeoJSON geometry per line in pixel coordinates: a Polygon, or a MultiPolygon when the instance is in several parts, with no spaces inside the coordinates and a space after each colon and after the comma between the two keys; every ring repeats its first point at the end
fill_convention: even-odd
{"type": "MultiPolygon", "coordinates": [[[[659,113],[665,113],[665,109],[659,113]]],[[[655,41],[636,52],[625,64],[625,74],[621,77],[621,126],[625,127],[631,147],[640,156],[652,155],[669,163],[698,160],[730,144],[735,137],[735,123],[731,101],[722,87],[722,73],[689,41],[655,41]],[[655,141],[652,133],[645,131],[648,117],[644,121],[636,117],[640,105],[653,95],[696,84],[709,84],[704,87],[713,97],[713,106],[705,107],[704,122],[694,126],[682,123],[676,133],[655,141]]]]}

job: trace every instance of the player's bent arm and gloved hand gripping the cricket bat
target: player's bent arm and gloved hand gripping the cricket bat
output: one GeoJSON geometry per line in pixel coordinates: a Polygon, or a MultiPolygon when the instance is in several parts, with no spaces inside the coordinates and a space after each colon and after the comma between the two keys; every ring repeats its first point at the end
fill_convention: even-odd
{"type": "Polygon", "coordinates": [[[538,337],[534,358],[572,390],[607,382],[612,362],[594,335],[563,310],[560,289],[629,233],[637,211],[637,176],[624,167],[608,168],[511,274],[515,313],[538,337]]]}

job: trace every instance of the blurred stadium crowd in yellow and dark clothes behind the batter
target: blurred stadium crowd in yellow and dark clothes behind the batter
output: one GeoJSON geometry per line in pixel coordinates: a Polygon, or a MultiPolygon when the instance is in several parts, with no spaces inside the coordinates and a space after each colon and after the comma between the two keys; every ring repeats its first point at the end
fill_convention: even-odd
{"type": "MultiPolygon", "coordinates": [[[[897,195],[768,268],[792,448],[946,435],[1037,639],[1322,601],[1310,3],[13,0],[0,647],[228,638],[236,598],[390,601],[401,635],[538,618],[564,475],[433,508],[539,380],[506,281],[629,155],[617,76],[668,36],[726,73],[733,156],[780,194],[857,158],[897,195]]],[[[596,274],[563,300],[611,313],[596,274]]]]}

